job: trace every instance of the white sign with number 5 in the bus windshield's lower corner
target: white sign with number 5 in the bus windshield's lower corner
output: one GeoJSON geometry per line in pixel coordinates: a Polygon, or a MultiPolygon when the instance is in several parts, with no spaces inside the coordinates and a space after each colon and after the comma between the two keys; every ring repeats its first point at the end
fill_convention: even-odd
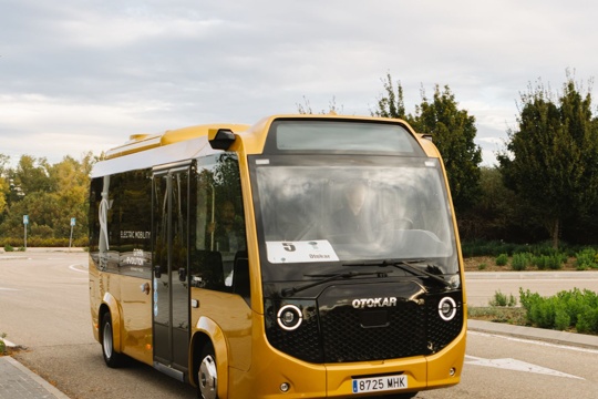
{"type": "Polygon", "coordinates": [[[337,262],[339,257],[327,239],[306,242],[266,242],[268,262],[308,263],[337,262]]]}

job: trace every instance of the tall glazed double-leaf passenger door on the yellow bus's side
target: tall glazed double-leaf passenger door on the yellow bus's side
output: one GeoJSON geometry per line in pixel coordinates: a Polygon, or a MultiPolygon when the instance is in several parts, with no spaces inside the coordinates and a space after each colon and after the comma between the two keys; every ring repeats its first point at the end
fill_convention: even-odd
{"type": "Polygon", "coordinates": [[[184,380],[188,366],[189,165],[154,171],[154,367],[184,380]]]}

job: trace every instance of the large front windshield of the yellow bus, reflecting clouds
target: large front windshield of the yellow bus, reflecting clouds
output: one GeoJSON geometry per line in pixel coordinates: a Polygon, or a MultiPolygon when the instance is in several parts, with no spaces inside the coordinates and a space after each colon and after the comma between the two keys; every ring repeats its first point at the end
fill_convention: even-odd
{"type": "Polygon", "coordinates": [[[271,155],[256,157],[252,174],[265,279],[290,278],[285,265],[302,275],[375,259],[458,270],[436,158],[271,155]]]}

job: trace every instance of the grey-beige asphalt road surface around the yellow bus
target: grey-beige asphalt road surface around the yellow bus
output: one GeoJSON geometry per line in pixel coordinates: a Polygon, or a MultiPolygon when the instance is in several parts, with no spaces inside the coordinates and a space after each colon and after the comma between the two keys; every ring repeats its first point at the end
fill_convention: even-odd
{"type": "MultiPolygon", "coordinates": [[[[14,358],[73,399],[195,398],[190,386],[135,361],[107,368],[93,339],[89,311],[87,255],[81,252],[0,254],[0,332],[25,346],[14,358]]],[[[473,273],[471,304],[486,305],[496,290],[518,287],[551,295],[588,284],[598,273],[537,275],[473,273]]],[[[598,350],[471,331],[462,382],[417,398],[596,398],[598,350]]]]}

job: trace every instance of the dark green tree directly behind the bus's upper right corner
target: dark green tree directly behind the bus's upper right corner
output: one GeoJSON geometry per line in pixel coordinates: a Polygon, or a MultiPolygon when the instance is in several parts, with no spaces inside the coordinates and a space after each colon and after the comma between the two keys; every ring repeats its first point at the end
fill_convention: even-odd
{"type": "Polygon", "coordinates": [[[408,115],[401,83],[398,82],[396,93],[390,73],[382,83],[385,95],[379,99],[372,115],[400,117],[415,131],[432,134],[444,161],[455,208],[458,212],[472,206],[481,194],[482,150],[474,143],[477,133],[475,117],[465,110],[458,110],[455,95],[447,85],[441,91],[437,84],[433,99],[427,99],[422,91],[422,103],[415,106],[414,115],[408,115]]]}

